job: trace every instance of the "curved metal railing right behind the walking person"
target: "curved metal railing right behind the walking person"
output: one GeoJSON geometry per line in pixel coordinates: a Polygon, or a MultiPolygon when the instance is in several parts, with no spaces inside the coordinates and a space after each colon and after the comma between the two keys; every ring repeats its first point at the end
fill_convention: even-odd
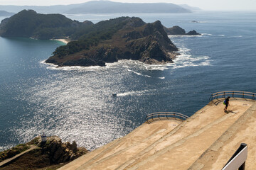
{"type": "Polygon", "coordinates": [[[225,98],[226,96],[230,96],[233,98],[235,96],[238,96],[238,97],[242,97],[242,98],[250,98],[252,100],[255,100],[256,94],[252,93],[252,92],[247,92],[247,91],[220,91],[220,92],[211,94],[209,100],[213,101],[213,99],[218,99],[219,97],[225,98]]]}

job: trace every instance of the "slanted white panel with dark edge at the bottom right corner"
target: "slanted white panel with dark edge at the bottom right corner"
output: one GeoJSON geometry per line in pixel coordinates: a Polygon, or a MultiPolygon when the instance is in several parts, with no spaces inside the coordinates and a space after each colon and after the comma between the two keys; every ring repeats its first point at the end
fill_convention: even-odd
{"type": "Polygon", "coordinates": [[[228,160],[222,170],[245,170],[245,161],[247,159],[247,144],[241,143],[240,147],[235,151],[233,156],[228,160]]]}

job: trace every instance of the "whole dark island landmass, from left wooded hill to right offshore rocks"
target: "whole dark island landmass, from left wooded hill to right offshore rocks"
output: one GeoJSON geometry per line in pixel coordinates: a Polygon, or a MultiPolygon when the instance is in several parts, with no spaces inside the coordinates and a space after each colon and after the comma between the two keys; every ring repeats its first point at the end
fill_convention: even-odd
{"type": "MultiPolygon", "coordinates": [[[[145,64],[173,62],[178,48],[167,36],[167,33],[174,34],[172,30],[177,29],[165,28],[160,21],[145,23],[137,17],[119,17],[93,24],[33,10],[23,10],[4,19],[0,25],[3,37],[69,38],[67,45],[58,47],[46,60],[60,67],[103,67],[118,60],[139,60],[145,64]]],[[[182,28],[178,31],[185,32],[182,28]]]]}

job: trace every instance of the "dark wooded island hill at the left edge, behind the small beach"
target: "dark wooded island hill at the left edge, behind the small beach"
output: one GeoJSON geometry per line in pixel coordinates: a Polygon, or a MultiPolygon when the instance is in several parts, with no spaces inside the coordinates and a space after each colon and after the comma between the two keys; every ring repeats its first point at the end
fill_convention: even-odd
{"type": "Polygon", "coordinates": [[[72,21],[60,14],[46,15],[33,10],[23,10],[1,21],[0,35],[38,39],[65,38],[92,24],[90,21],[72,21]]]}

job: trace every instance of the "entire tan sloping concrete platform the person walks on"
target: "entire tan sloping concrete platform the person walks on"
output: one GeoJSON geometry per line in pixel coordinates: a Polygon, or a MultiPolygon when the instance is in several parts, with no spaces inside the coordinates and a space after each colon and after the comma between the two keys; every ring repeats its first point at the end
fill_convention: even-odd
{"type": "Polygon", "coordinates": [[[144,123],[128,135],[75,159],[60,169],[222,169],[244,142],[245,169],[256,169],[256,101],[210,101],[187,120],[144,123]]]}

